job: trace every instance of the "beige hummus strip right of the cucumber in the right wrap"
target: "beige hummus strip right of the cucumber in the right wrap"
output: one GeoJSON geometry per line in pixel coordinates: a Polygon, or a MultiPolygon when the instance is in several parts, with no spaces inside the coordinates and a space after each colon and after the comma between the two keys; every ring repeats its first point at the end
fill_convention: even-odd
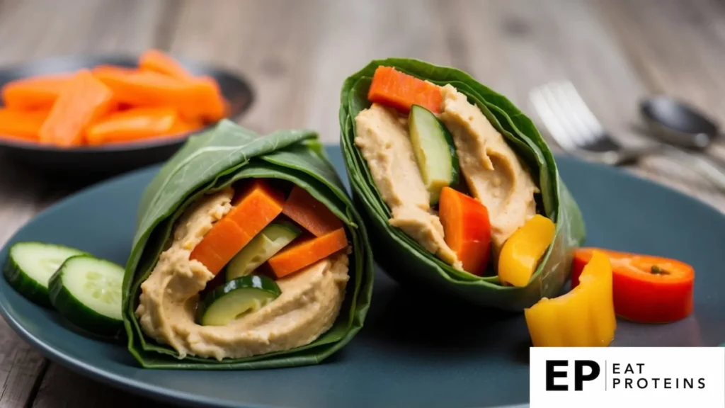
{"type": "Polygon", "coordinates": [[[453,135],[468,189],[489,211],[492,249],[497,254],[508,237],[536,214],[537,185],[479,107],[450,84],[442,94],[440,118],[453,135]]]}

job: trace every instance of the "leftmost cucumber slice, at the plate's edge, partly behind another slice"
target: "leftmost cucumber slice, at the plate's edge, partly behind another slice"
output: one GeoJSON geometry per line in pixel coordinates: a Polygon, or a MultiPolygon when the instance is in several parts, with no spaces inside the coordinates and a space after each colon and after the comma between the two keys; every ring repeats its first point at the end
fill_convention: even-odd
{"type": "Polygon", "coordinates": [[[17,242],[10,247],[3,268],[5,279],[28,300],[51,306],[48,281],[67,258],[82,250],[44,242],[17,242]]]}

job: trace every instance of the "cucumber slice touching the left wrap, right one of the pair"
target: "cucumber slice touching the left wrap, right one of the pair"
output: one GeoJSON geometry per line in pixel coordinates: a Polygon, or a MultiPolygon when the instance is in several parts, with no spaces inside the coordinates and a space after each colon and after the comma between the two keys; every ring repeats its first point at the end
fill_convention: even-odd
{"type": "Polygon", "coordinates": [[[50,278],[50,301],[62,317],[97,335],[123,327],[123,266],[90,255],[72,256],[50,278]]]}

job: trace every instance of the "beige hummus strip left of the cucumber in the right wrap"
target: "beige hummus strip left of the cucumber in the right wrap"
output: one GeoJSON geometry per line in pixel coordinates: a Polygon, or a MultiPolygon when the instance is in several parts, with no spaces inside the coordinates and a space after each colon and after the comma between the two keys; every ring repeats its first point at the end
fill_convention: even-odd
{"type": "Polygon", "coordinates": [[[355,144],[390,208],[389,223],[447,264],[463,269],[444,240],[441,220],[431,211],[431,197],[415,163],[407,127],[397,112],[378,104],[360,112],[355,118],[355,144]]]}

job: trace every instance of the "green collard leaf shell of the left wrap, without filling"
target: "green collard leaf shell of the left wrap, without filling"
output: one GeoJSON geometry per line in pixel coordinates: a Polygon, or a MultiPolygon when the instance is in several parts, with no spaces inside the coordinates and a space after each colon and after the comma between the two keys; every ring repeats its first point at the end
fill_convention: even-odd
{"type": "Polygon", "coordinates": [[[123,320],[128,349],[143,367],[249,370],[318,364],[345,346],[363,326],[373,290],[373,260],[360,216],[312,131],[286,130],[266,136],[230,121],[192,136],[151,181],[138,207],[136,236],[123,280],[123,320]],[[244,178],[291,181],[339,217],[352,238],[344,303],[333,327],[307,346],[243,359],[178,359],[173,348],[144,335],[134,311],[140,285],[170,240],[175,220],[195,200],[244,178]]]}

